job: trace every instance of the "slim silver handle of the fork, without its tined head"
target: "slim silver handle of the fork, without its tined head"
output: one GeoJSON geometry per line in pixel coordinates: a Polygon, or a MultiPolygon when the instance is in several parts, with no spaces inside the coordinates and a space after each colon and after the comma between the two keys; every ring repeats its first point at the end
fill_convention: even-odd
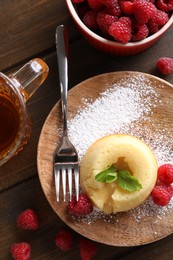
{"type": "Polygon", "coordinates": [[[56,28],[56,51],[61,90],[63,136],[67,136],[68,31],[64,25],[56,28]]]}

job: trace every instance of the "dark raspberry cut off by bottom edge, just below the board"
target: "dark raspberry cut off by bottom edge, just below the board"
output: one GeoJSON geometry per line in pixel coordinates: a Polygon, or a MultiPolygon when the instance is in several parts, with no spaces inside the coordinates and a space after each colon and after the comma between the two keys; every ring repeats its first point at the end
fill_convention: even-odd
{"type": "Polygon", "coordinates": [[[90,260],[98,252],[96,243],[86,238],[80,239],[79,249],[82,260],[90,260]]]}

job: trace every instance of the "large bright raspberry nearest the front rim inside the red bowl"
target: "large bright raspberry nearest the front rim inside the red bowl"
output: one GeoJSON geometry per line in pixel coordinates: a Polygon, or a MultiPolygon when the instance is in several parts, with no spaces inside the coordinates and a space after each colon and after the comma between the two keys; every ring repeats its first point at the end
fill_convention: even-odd
{"type": "Polygon", "coordinates": [[[128,17],[121,17],[109,28],[109,34],[121,43],[127,43],[131,39],[131,22],[128,17]]]}

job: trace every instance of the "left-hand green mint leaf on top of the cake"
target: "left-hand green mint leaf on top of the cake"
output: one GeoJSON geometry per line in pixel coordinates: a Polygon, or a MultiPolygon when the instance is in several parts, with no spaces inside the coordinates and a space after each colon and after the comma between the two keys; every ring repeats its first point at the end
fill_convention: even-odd
{"type": "Polygon", "coordinates": [[[117,171],[113,165],[104,171],[99,172],[95,176],[95,180],[99,182],[113,182],[117,179],[117,171]]]}

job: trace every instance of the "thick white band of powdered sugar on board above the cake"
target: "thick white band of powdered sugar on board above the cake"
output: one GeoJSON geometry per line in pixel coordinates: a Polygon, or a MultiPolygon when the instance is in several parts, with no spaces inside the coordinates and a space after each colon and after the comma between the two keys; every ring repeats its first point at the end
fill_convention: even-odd
{"type": "Polygon", "coordinates": [[[143,76],[121,80],[109,87],[93,103],[84,100],[86,107],[78,110],[69,121],[69,138],[79,159],[97,139],[113,133],[129,131],[132,122],[147,120],[151,107],[158,103],[158,94],[143,76]]]}

